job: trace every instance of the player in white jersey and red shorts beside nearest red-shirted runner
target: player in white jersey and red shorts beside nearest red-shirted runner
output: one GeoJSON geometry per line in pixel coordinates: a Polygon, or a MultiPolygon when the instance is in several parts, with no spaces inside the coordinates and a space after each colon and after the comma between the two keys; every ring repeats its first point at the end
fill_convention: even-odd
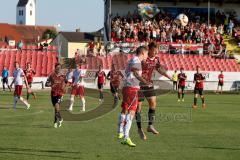
{"type": "Polygon", "coordinates": [[[77,68],[73,71],[72,77],[72,91],[70,96],[69,111],[73,110],[74,97],[79,95],[82,101],[82,111],[85,111],[84,85],[83,77],[85,72],[81,69],[81,64],[77,64],[77,68]]]}

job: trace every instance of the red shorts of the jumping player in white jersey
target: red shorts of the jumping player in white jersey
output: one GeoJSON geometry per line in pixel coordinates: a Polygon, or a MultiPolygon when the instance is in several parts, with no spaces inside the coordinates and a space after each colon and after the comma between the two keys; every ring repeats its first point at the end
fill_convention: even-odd
{"type": "Polygon", "coordinates": [[[138,106],[138,88],[123,87],[122,109],[136,112],[138,106]]]}

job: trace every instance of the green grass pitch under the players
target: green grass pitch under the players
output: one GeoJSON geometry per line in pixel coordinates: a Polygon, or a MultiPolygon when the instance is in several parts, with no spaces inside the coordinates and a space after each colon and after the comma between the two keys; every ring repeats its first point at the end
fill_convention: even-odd
{"type": "MultiPolygon", "coordinates": [[[[14,111],[8,109],[12,107],[12,93],[1,93],[0,159],[225,160],[240,156],[238,94],[206,95],[206,110],[191,109],[190,93],[185,102],[177,102],[176,94],[172,93],[159,96],[155,127],[160,135],[147,133],[147,141],[142,141],[134,122],[130,135],[136,148],[123,146],[116,138],[120,107],[102,118],[64,121],[61,128],[54,129],[49,92],[38,92],[37,96],[37,100],[30,100],[30,110],[18,105],[14,111]]],[[[87,97],[86,102],[88,110],[99,104],[97,98],[87,97]]],[[[79,103],[76,99],[75,105],[79,103]]],[[[143,108],[146,119],[146,102],[143,108]]],[[[146,128],[147,123],[143,126],[146,128]]]]}

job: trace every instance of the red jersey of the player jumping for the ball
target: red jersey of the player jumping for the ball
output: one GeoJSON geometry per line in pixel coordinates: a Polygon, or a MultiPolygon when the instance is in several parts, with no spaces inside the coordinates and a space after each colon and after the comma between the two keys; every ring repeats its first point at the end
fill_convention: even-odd
{"type": "Polygon", "coordinates": [[[149,82],[152,82],[152,74],[154,69],[160,66],[159,57],[147,58],[142,62],[142,77],[149,82]]]}

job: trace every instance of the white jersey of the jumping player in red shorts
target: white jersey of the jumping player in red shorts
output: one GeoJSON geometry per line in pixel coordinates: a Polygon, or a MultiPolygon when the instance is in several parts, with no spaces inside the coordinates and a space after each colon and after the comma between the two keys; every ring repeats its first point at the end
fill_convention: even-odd
{"type": "Polygon", "coordinates": [[[142,75],[141,61],[137,56],[133,57],[128,62],[128,66],[125,70],[126,79],[125,79],[124,86],[125,87],[140,88],[139,87],[140,81],[134,76],[134,74],[132,72],[133,69],[137,70],[139,75],[142,75]]]}

